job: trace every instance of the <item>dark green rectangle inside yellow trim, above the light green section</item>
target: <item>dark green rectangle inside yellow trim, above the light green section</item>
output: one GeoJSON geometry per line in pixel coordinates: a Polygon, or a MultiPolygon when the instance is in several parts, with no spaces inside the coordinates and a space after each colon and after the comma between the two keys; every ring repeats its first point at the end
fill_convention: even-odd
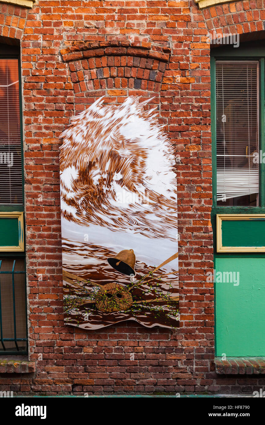
{"type": "Polygon", "coordinates": [[[265,246],[265,220],[223,220],[222,246],[265,246]]]}

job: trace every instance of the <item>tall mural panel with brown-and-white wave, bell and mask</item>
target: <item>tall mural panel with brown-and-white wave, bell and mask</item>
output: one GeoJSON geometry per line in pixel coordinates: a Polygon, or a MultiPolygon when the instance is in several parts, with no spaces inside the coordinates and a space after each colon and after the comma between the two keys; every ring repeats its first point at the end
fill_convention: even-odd
{"type": "Polygon", "coordinates": [[[179,326],[174,147],[149,100],[100,98],[60,136],[66,325],[179,326]]]}

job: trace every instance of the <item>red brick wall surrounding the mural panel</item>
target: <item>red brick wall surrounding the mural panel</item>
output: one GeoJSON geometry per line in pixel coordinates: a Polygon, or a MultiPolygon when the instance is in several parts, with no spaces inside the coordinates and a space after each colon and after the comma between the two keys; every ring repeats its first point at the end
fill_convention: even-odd
{"type": "Polygon", "coordinates": [[[205,37],[213,28],[262,30],[264,6],[261,0],[202,11],[193,0],[39,0],[32,10],[0,4],[1,37],[21,40],[22,48],[29,350],[36,361],[35,373],[1,375],[1,389],[252,392],[262,386],[260,376],[214,372],[214,293],[205,276],[213,268],[205,37]],[[134,322],[99,331],[63,325],[58,136],[74,113],[103,94],[108,102],[155,95],[181,158],[178,330],[134,322]]]}

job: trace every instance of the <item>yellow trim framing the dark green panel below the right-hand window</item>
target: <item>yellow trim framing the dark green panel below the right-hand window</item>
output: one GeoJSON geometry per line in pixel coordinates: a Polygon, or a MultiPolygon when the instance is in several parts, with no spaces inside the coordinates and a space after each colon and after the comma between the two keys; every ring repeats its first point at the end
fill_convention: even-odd
{"type": "Polygon", "coordinates": [[[217,214],[217,252],[265,252],[265,246],[222,246],[223,220],[251,220],[259,217],[265,218],[265,214],[217,214]]]}

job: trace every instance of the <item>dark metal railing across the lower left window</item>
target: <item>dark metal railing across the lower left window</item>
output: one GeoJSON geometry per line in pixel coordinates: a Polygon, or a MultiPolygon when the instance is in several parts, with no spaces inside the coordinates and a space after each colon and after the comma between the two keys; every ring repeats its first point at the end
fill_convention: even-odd
{"type": "MultiPolygon", "coordinates": [[[[14,260],[13,262],[13,267],[12,270],[10,271],[2,271],[1,270],[1,265],[2,265],[2,260],[0,260],[0,342],[2,343],[3,346],[3,350],[0,349],[0,354],[1,353],[5,353],[5,354],[27,354],[27,350],[28,350],[28,338],[17,338],[17,326],[16,326],[16,304],[15,304],[15,282],[14,282],[14,275],[15,274],[24,274],[25,278],[26,278],[26,271],[15,271],[15,264],[16,264],[16,260],[14,260]],[[6,275],[12,275],[12,295],[13,295],[13,324],[14,324],[14,338],[4,338],[3,337],[3,317],[2,317],[2,300],[1,300],[1,275],[6,274],[6,275]],[[18,341],[25,341],[25,345],[26,345],[26,349],[20,349],[20,347],[17,345],[18,341]],[[6,348],[4,342],[14,342],[17,351],[12,351],[9,350],[8,348],[6,348]]],[[[25,306],[26,306],[26,311],[25,311],[25,315],[26,315],[26,319],[27,319],[27,302],[26,302],[26,280],[25,280],[25,306]]],[[[27,334],[27,320],[26,320],[26,334],[27,334]]]]}

